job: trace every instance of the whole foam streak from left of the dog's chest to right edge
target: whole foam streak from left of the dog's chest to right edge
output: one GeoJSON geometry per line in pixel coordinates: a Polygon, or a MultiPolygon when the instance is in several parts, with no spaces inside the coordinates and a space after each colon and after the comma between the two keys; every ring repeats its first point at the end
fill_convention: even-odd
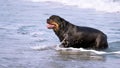
{"type": "Polygon", "coordinates": [[[115,52],[105,52],[105,51],[96,51],[96,50],[87,50],[83,48],[61,48],[59,46],[34,46],[31,47],[34,50],[49,50],[49,49],[54,49],[56,51],[62,52],[62,53],[67,53],[67,54],[83,54],[83,53],[89,53],[90,55],[106,55],[106,54],[120,54],[120,51],[115,51],[115,52]]]}

